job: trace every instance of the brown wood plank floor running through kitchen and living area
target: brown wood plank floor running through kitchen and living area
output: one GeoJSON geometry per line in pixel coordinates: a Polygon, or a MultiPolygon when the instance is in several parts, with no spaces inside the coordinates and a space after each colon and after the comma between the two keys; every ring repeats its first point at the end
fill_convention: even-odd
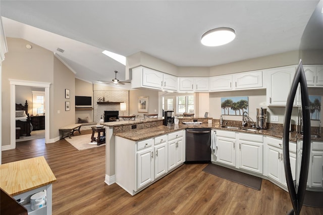
{"type": "MultiPolygon", "coordinates": [[[[3,151],[2,163],[41,155],[57,178],[53,214],[286,214],[292,208],[289,194],[271,182],[254,190],[203,172],[205,164],[183,165],[131,196],[104,183],[105,146],[79,151],[66,140],[29,140],[3,151]]],[[[323,208],[303,206],[301,214],[323,208]]]]}

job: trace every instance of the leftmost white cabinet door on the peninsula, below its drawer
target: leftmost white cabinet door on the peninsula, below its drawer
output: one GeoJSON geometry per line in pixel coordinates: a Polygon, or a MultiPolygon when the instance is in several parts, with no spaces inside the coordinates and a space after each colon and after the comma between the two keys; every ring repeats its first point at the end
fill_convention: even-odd
{"type": "Polygon", "coordinates": [[[137,153],[137,189],[153,181],[152,148],[137,153]]]}

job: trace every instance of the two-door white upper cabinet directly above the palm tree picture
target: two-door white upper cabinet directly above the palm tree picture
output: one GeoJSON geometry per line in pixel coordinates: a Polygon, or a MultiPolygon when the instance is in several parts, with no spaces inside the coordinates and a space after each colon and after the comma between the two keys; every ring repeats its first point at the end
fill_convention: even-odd
{"type": "Polygon", "coordinates": [[[262,71],[210,77],[211,91],[263,88],[262,71]]]}

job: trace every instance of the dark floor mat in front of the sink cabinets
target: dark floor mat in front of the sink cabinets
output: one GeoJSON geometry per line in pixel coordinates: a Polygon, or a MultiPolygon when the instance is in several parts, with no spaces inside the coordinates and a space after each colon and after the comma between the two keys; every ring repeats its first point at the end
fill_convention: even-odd
{"type": "Polygon", "coordinates": [[[205,173],[219,176],[221,178],[242,184],[247,187],[251,187],[256,190],[260,190],[261,188],[261,178],[231,170],[229,168],[221,167],[219,165],[209,164],[203,169],[203,171],[205,173]]]}

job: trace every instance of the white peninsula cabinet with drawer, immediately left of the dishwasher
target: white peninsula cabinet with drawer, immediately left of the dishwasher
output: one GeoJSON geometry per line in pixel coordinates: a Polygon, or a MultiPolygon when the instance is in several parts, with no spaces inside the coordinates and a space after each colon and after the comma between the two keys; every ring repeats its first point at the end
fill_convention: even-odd
{"type": "Polygon", "coordinates": [[[183,130],[168,134],[168,170],[172,170],[185,162],[183,130]]]}

